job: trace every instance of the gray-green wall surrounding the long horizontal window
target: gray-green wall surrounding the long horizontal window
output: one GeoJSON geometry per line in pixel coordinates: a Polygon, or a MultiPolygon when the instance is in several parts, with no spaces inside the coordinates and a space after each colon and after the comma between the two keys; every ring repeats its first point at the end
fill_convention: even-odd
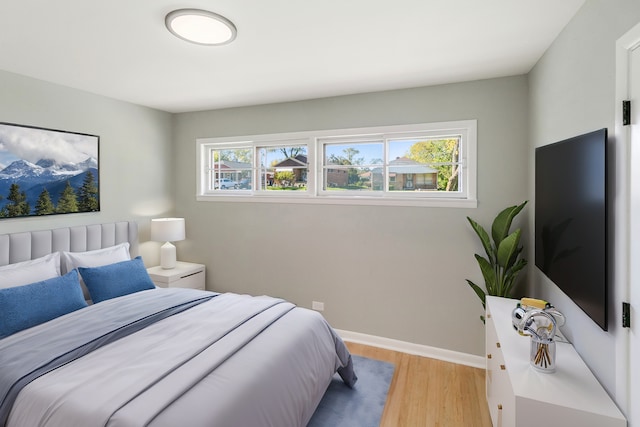
{"type": "Polygon", "coordinates": [[[527,105],[517,76],[176,115],[178,256],[207,265],[211,290],[322,301],[336,328],[482,355],[465,217],[489,225],[526,199],[527,105]],[[195,201],[198,137],[463,119],[478,120],[477,209],[195,201]]]}

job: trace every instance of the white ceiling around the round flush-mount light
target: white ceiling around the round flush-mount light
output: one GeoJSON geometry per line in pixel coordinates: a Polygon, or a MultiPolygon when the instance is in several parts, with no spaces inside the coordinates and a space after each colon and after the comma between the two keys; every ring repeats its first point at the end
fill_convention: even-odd
{"type": "Polygon", "coordinates": [[[0,69],[185,112],[527,73],[585,0],[2,0],[0,69]],[[207,9],[225,46],[170,34],[207,9]]]}

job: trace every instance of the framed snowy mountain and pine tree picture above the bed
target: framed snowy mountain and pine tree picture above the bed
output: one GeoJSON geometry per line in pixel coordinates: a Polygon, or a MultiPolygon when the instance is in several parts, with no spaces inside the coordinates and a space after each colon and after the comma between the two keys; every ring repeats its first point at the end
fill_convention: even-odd
{"type": "Polygon", "coordinates": [[[100,210],[100,137],[0,123],[0,219],[100,210]]]}

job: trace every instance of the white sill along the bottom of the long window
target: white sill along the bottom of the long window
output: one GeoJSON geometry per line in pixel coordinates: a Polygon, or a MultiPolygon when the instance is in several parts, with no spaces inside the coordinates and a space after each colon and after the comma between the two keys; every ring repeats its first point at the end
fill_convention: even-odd
{"type": "Polygon", "coordinates": [[[233,202],[233,203],[282,203],[303,205],[364,205],[364,206],[415,206],[434,208],[469,208],[478,207],[476,199],[453,198],[383,198],[367,196],[330,197],[330,196],[262,196],[255,194],[215,194],[197,195],[199,202],[233,202]]]}

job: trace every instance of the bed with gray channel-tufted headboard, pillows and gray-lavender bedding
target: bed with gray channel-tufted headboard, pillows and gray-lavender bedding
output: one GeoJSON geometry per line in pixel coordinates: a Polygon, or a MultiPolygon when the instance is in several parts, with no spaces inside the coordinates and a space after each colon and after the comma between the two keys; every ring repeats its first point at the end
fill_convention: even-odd
{"type": "Polygon", "coordinates": [[[137,245],[135,222],[0,235],[0,426],[305,426],[357,380],[319,313],[156,288],[137,245]]]}

